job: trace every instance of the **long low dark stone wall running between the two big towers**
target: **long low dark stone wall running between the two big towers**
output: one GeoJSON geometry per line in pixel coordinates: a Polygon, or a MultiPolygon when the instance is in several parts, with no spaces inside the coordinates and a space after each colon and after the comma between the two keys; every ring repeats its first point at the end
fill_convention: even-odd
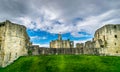
{"type": "Polygon", "coordinates": [[[51,54],[83,54],[82,48],[41,48],[39,46],[30,46],[29,55],[51,55],[51,54]]]}

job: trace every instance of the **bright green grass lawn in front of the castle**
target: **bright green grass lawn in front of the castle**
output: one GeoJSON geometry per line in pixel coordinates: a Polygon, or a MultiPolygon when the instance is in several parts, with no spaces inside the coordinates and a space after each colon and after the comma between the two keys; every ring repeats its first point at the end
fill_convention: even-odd
{"type": "Polygon", "coordinates": [[[0,72],[120,72],[120,57],[41,55],[20,57],[0,72]]]}

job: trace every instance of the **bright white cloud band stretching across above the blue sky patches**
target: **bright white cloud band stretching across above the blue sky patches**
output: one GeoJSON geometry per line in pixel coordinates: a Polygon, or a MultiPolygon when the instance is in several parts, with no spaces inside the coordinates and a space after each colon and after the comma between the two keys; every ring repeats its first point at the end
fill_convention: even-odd
{"type": "Polygon", "coordinates": [[[83,21],[77,22],[73,25],[72,22],[64,22],[64,18],[59,18],[59,14],[54,14],[54,11],[45,9],[42,17],[32,19],[30,17],[18,17],[14,22],[25,25],[29,29],[47,31],[49,33],[68,33],[70,32],[74,37],[83,37],[89,35],[79,34],[78,32],[84,31],[91,35],[94,34],[95,30],[102,27],[105,24],[116,24],[120,23],[120,10],[110,10],[100,15],[93,15],[84,18],[83,21]],[[61,24],[55,24],[54,21],[59,21],[61,24]],[[70,23],[70,24],[68,24],[70,23]]]}

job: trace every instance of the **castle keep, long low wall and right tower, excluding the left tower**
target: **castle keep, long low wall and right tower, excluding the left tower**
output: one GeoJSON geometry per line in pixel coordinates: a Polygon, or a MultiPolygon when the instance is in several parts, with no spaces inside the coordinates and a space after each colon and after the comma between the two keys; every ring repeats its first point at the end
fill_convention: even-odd
{"type": "Polygon", "coordinates": [[[58,34],[58,40],[50,42],[50,48],[32,46],[29,48],[33,55],[39,54],[92,54],[92,55],[120,55],[120,25],[108,24],[99,28],[93,40],[85,43],[77,43],[76,48],[73,42],[62,40],[58,34]]]}

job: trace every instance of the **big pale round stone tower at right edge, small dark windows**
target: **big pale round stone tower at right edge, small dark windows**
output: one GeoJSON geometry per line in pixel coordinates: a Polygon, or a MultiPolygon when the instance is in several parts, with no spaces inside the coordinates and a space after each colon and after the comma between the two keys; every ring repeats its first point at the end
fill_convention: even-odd
{"type": "Polygon", "coordinates": [[[94,35],[95,48],[103,48],[101,53],[120,55],[120,24],[108,24],[99,28],[94,35]]]}

